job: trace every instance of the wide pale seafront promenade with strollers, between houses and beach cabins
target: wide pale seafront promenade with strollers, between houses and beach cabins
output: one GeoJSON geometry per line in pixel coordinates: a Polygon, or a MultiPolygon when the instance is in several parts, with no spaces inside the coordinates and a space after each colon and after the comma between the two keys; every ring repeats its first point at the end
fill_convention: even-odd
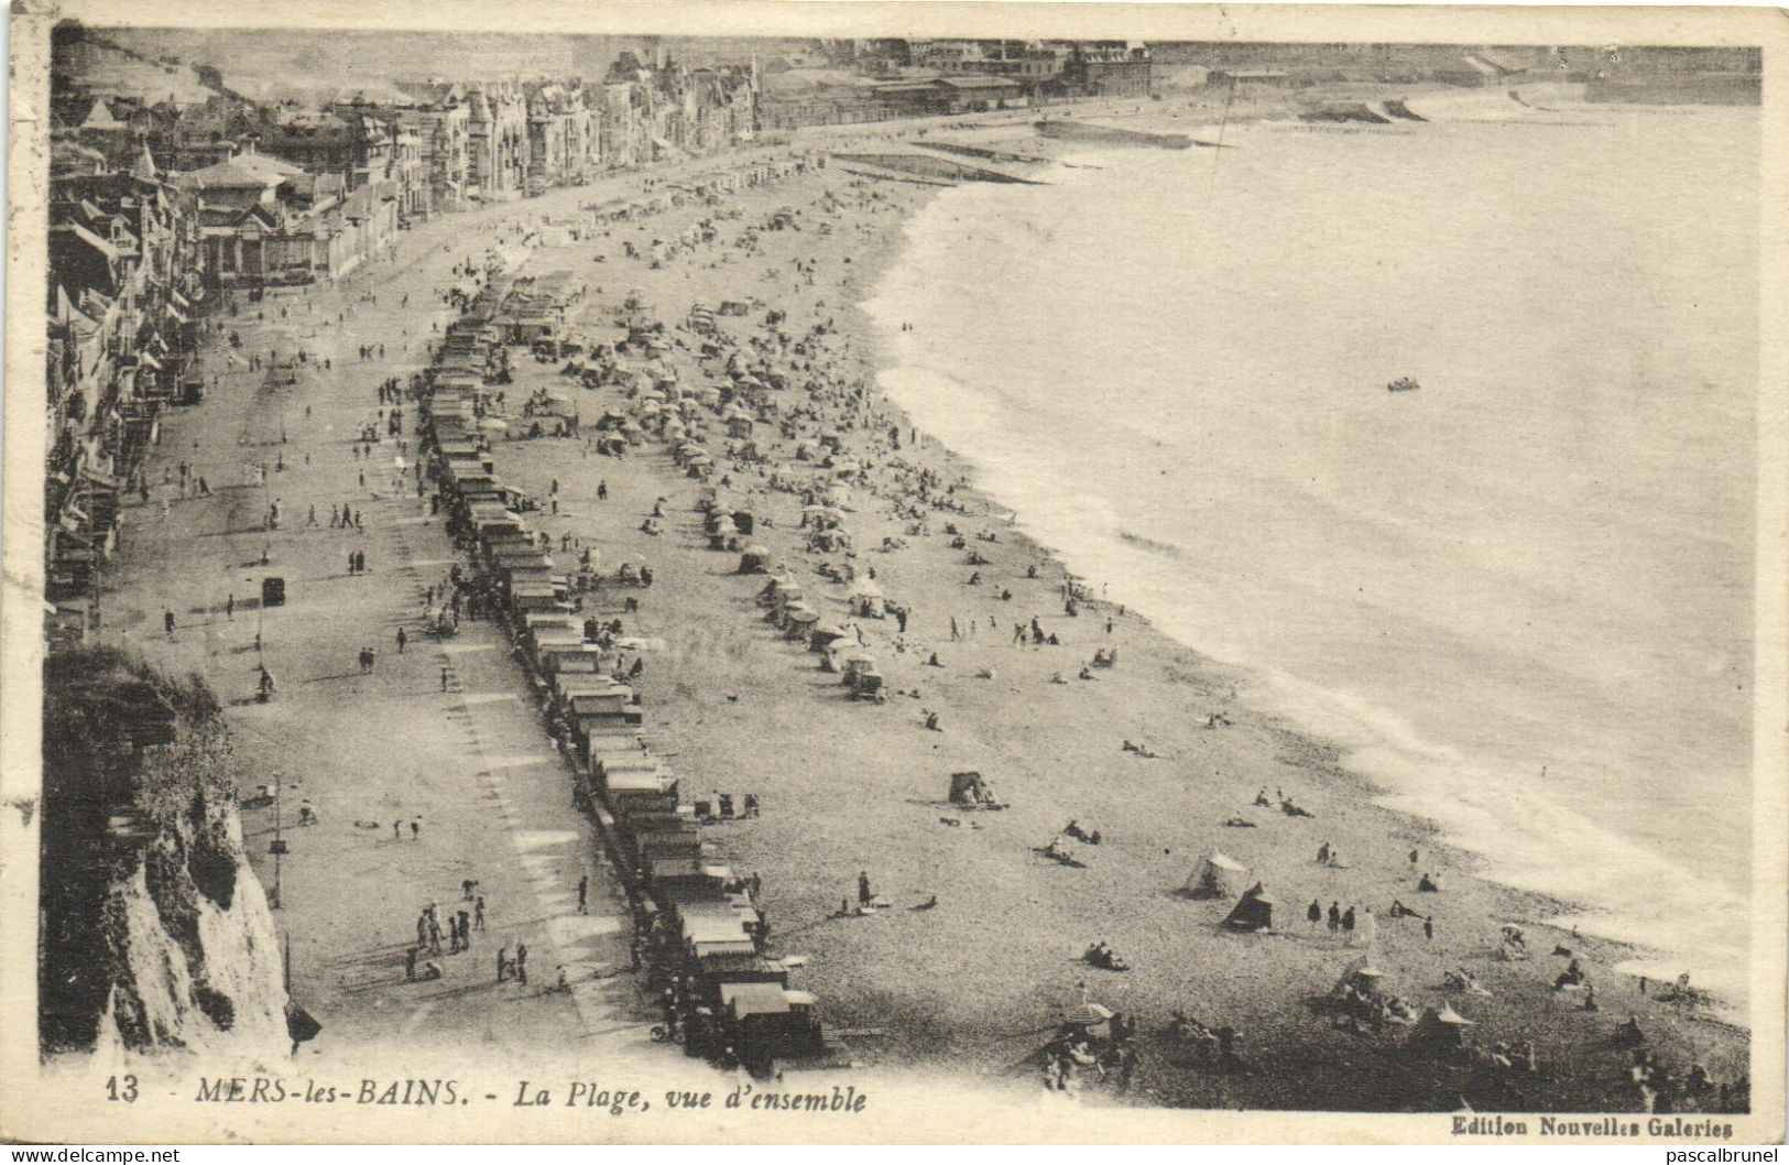
{"type": "MultiPolygon", "coordinates": [[[[571,208],[594,193],[562,190],[537,206],[571,208]]],[[[419,225],[395,258],[336,285],[276,290],[220,313],[204,353],[208,395],[165,413],[145,465],[150,499],[127,508],[123,553],[104,580],[104,641],[199,673],[231,705],[250,775],[245,841],[270,893],[276,802],[261,786],[277,784],[288,854],[277,863],[276,916],[292,988],[338,1047],[343,1038],[512,1050],[644,1040],[623,974],[624,904],[571,811],[564,761],[508,644],[471,621],[445,644],[422,634],[424,594],[447,578],[453,548],[408,471],[415,408],[403,437],[379,424],[377,385],[408,383],[428,363],[431,324],[453,319],[437,288],[454,263],[485,258],[465,240],[488,236],[485,224],[508,211],[419,225]],[[360,358],[363,344],[370,360],[360,358]],[[263,370],[249,370],[249,356],[263,370]],[[365,426],[381,440],[360,456],[365,426]],[[254,485],[261,465],[267,480],[254,485]],[[209,496],[197,496],[199,478],[209,496]],[[267,530],[276,505],[277,530],[267,530]],[[356,526],[331,528],[333,508],[352,510],[356,526]],[[365,555],[365,573],[349,573],[352,553],[365,555]],[[284,605],[261,608],[263,578],[284,580],[284,605]],[[361,650],[376,653],[365,671],[361,650]],[[263,664],[277,685],[268,703],[256,702],[263,664]],[[306,809],[315,825],[301,825],[306,809]],[[589,914],[578,911],[583,875],[589,914]],[[465,880],[485,900],[471,952],[424,956],[444,977],[406,982],[419,911],[437,902],[471,914],[465,880]],[[497,984],[497,950],[513,957],[524,943],[528,984],[497,984]],[[549,990],[560,965],[569,997],[549,990]]]]}

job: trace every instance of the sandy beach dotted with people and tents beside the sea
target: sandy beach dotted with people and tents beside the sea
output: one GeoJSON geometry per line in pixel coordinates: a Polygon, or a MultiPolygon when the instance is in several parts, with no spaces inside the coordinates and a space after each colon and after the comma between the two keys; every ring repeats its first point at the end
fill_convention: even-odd
{"type": "MultiPolygon", "coordinates": [[[[1016,150],[1047,150],[1016,129],[979,131],[973,141],[1002,134],[1016,150]]],[[[830,134],[825,145],[852,143],[830,134]]],[[[708,417],[717,462],[708,483],[655,438],[621,458],[580,437],[501,440],[494,458],[506,483],[542,499],[530,521],[555,546],[576,539],[569,546],[592,548],[603,573],[651,565],[655,583],[630,634],[662,641],[632,680],[653,748],[682,777],[685,800],[710,789],[759,796],[762,816],[708,836],[735,870],[762,877],[773,947],[810,956],[803,986],[853,1056],[1032,1088],[1036,1052],[1086,982],[1093,1000],[1140,1024],[1129,1095],[1090,1086],[1118,1102],[1639,1111],[1632,1052],[1612,1038],[1630,1013],[1678,1077],[1701,1063],[1712,1079],[1739,1083],[1744,1033],[1642,993],[1612,970],[1630,950],[1544,925],[1567,904],[1476,879],[1474,863],[1420,821],[1376,807],[1335,750],[1238,702],[1245,675],[1104,601],[1100,580],[1070,580],[975,490],[966,463],[877,395],[880,354],[857,304],[900,261],[902,224],[936,190],[835,163],[733,193],[719,215],[689,204],[538,247],[510,270],[585,279],[569,331],[590,342],[623,338],[614,310],[635,301],[640,317],[666,324],[666,363],[685,388],[725,379],[717,354],[751,344],[791,372],[771,394],[775,413],[762,410],[750,428],[757,458],[723,456],[744,438],[708,417]],[[787,229],[767,229],[778,211],[787,229]],[[653,249],[703,220],[712,242],[653,249]],[[685,320],[691,308],[725,301],[748,311],[716,317],[705,358],[703,335],[685,320]],[[773,311],[780,319],[767,324],[773,311]],[[835,465],[862,467],[828,474],[843,478],[848,551],[812,549],[801,528],[803,506],[827,492],[807,460],[827,433],[837,435],[835,465]],[[823,625],[877,659],[886,702],[850,700],[819,653],[764,619],[755,596],[766,576],[741,574],[737,549],[710,549],[698,510],[705,485],[753,512],[746,540],[769,551],[773,573],[793,576],[823,625]],[[905,630],[852,610],[841,580],[871,571],[905,608],[905,630]],[[1064,601],[1072,582],[1075,614],[1064,601]],[[1116,653],[1116,664],[1090,668],[1097,651],[1116,653]],[[950,775],[962,770],[989,778],[1007,807],[952,805],[950,775]],[[1079,866],[1041,854],[1068,821],[1100,832],[1098,845],[1077,846],[1079,866]],[[1320,846],[1338,859],[1318,863],[1320,846]],[[1224,931],[1231,900],[1177,893],[1213,850],[1270,891],[1274,934],[1224,931]],[[886,909],[841,913],[859,872],[886,909]],[[1422,875],[1440,893],[1419,891],[1422,875]],[[1388,916],[1394,900],[1420,916],[1388,916]],[[1531,1042],[1537,1070],[1437,1063],[1406,1047],[1410,1027],[1344,1024],[1324,997],[1369,950],[1308,923],[1311,904],[1374,911],[1370,959],[1386,993],[1417,1011],[1451,1004],[1472,1022],[1474,1047],[1531,1042]],[[1433,918],[1431,934],[1422,916],[1433,918]],[[1505,923],[1526,929],[1531,957],[1497,957],[1505,923]],[[1131,970],[1084,963],[1095,941],[1131,970]],[[1556,945],[1581,963],[1598,1011],[1583,1008],[1581,990],[1553,990],[1567,966],[1551,954],[1556,945]],[[1446,990],[1444,975],[1460,968],[1488,995],[1446,990]],[[1186,1063],[1166,1038],[1177,1009],[1233,1027],[1240,1067],[1186,1063]]],[[[615,387],[574,388],[562,360],[515,354],[512,412],[549,388],[574,394],[587,428],[605,410],[639,415],[640,401],[615,387]]],[[[1742,1108],[1742,1097],[1728,1104],[1742,1108]]],[[[1717,1108],[1712,1095],[1678,1104],[1717,1108]]]]}

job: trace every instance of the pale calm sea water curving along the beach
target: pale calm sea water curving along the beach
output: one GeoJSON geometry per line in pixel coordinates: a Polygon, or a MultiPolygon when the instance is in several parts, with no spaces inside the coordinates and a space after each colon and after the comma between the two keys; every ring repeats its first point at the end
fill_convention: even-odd
{"type": "Polygon", "coordinates": [[[884,388],[1386,804],[1741,1002],[1757,111],[1225,141],[945,191],[884,388]]]}

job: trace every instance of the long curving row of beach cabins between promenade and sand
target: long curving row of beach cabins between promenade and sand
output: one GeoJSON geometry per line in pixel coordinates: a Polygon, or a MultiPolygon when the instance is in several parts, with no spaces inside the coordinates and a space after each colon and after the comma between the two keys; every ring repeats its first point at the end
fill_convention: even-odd
{"type": "MultiPolygon", "coordinates": [[[[633,906],[635,963],[666,1027],[687,1054],[760,1076],[844,1067],[814,997],[791,984],[801,959],[769,952],[757,880],[739,877],[703,836],[703,821],[741,807],[683,800],[676,773],[653,753],[639,693],[615,676],[630,641],[585,617],[551,540],[530,530],[526,499],[497,476],[481,428],[485,385],[506,365],[508,336],[492,322],[497,295],[487,288],[447,329],[424,392],[429,469],[471,557],[462,583],[515,644],[578,802],[603,830],[633,906]]],[[[755,812],[755,798],[742,809],[755,812]]]]}

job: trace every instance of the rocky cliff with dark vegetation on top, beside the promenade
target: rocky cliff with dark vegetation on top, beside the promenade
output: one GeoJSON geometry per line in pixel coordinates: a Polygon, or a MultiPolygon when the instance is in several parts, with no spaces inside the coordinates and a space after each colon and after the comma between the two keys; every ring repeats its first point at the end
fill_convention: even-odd
{"type": "Polygon", "coordinates": [[[45,669],[39,1040],[193,1047],[284,1015],[218,702],[113,648],[45,669]],[[252,886],[245,886],[252,884],[252,886]]]}

